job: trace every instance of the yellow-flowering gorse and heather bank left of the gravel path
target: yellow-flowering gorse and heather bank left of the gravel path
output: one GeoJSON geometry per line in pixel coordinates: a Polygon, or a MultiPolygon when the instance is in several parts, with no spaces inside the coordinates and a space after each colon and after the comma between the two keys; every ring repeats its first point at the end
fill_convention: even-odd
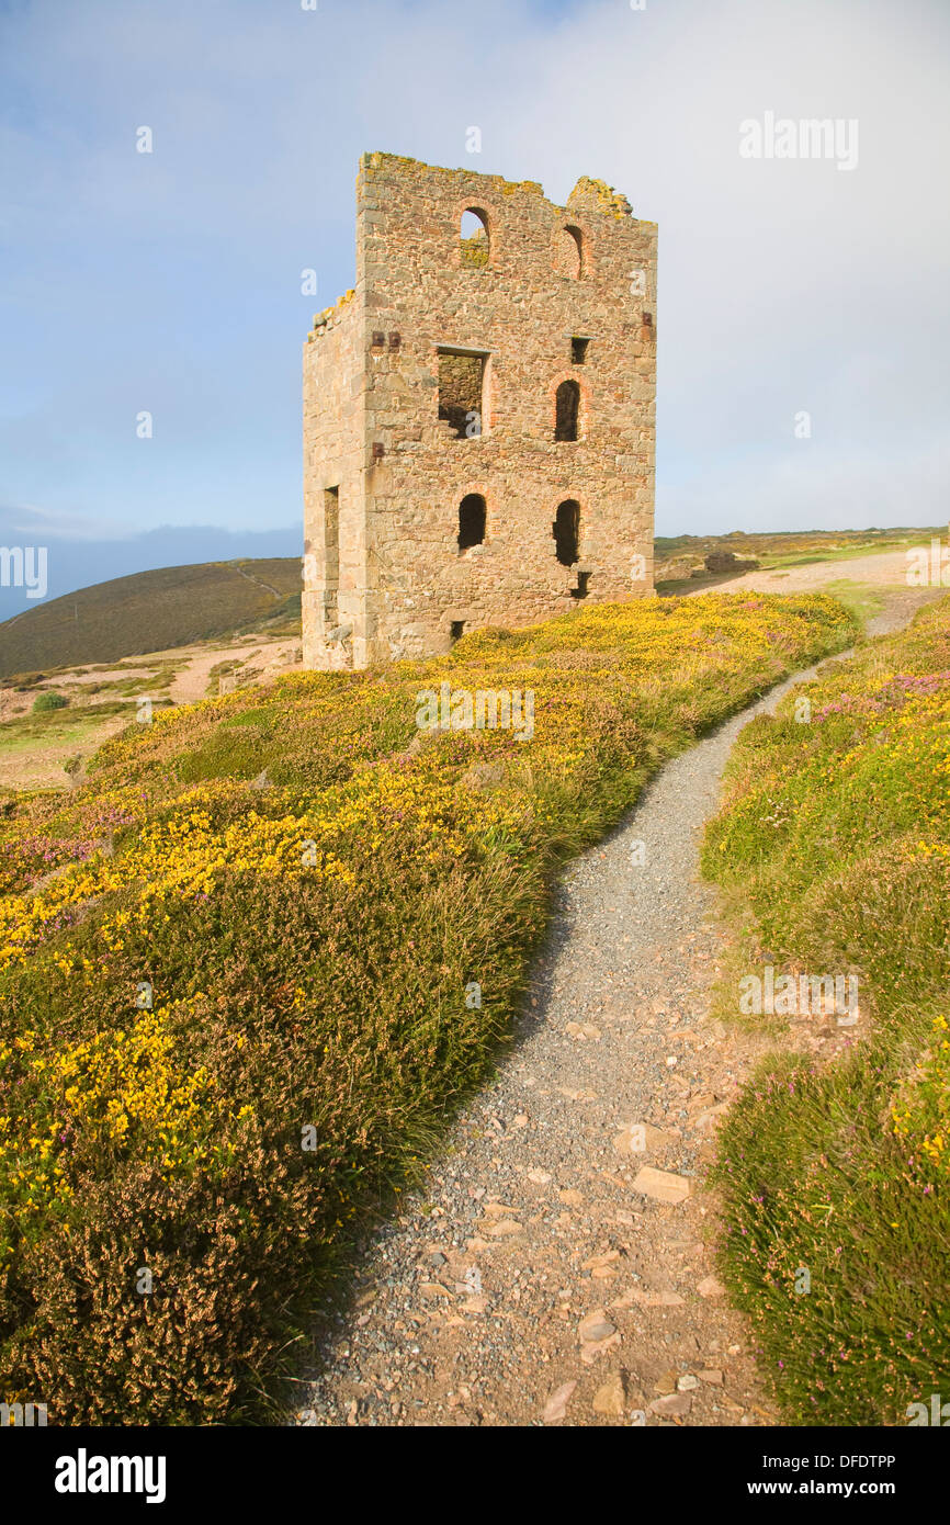
{"type": "Polygon", "coordinates": [[[66,1423],[259,1415],[358,1203],[497,1057],[558,863],[852,634],[822,596],[592,607],[156,712],[69,798],[21,799],[0,1392],[66,1423]],[[442,682],[531,689],[532,738],[419,732],[442,682]]]}

